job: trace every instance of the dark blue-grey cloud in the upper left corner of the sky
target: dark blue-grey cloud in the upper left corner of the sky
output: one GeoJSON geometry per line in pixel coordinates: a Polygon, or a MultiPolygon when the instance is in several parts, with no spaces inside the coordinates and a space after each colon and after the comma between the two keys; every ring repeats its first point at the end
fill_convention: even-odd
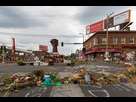
{"type": "Polygon", "coordinates": [[[28,28],[37,26],[47,26],[48,22],[43,23],[38,19],[28,17],[19,7],[0,6],[0,27],[2,28],[28,28]]]}

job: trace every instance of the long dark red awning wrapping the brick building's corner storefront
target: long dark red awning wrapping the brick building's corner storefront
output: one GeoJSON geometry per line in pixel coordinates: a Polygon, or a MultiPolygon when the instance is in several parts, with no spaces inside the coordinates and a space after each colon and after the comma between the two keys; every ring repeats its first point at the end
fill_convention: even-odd
{"type": "MultiPolygon", "coordinates": [[[[108,52],[122,52],[121,48],[108,48],[108,52]]],[[[93,53],[93,52],[106,52],[106,48],[96,48],[90,51],[86,51],[85,54],[93,53]]]]}

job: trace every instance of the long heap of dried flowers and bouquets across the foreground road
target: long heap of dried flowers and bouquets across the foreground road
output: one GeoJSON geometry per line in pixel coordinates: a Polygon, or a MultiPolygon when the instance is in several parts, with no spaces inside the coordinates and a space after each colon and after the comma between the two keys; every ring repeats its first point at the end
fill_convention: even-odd
{"type": "Polygon", "coordinates": [[[90,71],[86,71],[85,67],[79,67],[79,69],[80,71],[75,71],[76,74],[73,74],[72,77],[61,78],[56,77],[52,72],[45,72],[42,68],[36,69],[26,76],[0,76],[0,91],[7,91],[5,96],[8,96],[11,91],[18,92],[19,89],[31,85],[41,85],[45,81],[45,75],[50,76],[50,82],[60,82],[61,84],[92,84],[104,87],[108,84],[121,84],[122,79],[125,79],[125,82],[136,82],[136,67],[134,65],[124,69],[120,73],[109,75],[105,75],[104,72],[92,74],[90,71]]]}

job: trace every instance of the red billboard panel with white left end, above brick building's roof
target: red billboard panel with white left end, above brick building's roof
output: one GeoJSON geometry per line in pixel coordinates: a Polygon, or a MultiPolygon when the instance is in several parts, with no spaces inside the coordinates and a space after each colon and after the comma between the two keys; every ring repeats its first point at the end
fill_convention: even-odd
{"type": "Polygon", "coordinates": [[[97,22],[95,24],[86,27],[86,34],[96,32],[103,29],[103,21],[97,22]]]}

